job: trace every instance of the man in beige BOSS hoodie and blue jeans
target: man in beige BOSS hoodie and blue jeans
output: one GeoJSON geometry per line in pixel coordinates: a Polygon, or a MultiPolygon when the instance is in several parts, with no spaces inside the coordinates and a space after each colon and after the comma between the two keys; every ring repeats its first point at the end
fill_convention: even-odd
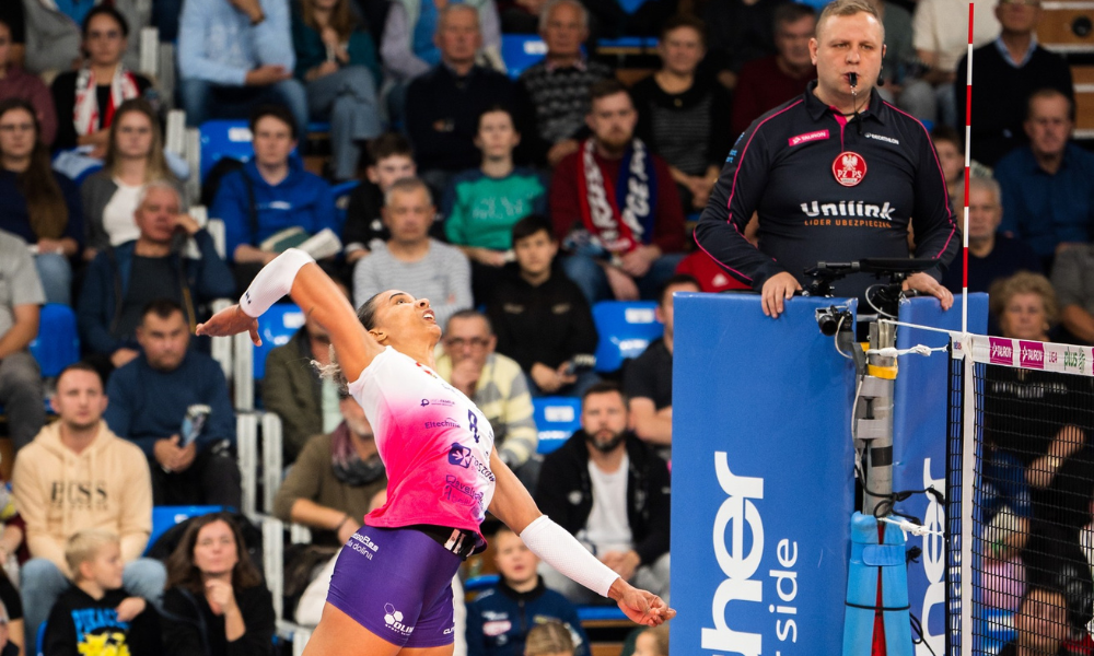
{"type": "Polygon", "coordinates": [[[159,605],[167,578],[163,563],[141,558],[152,530],[148,460],[103,421],[107,403],[98,373],[83,362],[65,367],[50,406],[58,421],[20,450],[12,473],[31,551],[20,571],[27,654],[37,653],[38,625],[69,587],[65,542],[80,530],[119,537],[123,587],[129,593],[159,605]]]}

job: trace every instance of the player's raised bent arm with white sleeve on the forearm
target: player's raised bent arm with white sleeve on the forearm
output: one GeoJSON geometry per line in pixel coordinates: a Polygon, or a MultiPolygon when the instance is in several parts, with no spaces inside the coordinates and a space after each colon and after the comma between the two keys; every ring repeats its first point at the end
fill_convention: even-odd
{"type": "Polygon", "coordinates": [[[260,344],[258,317],[288,294],[330,333],[338,364],[347,380],[356,380],[383,348],[372,339],[357,318],[357,313],[323,269],[310,255],[290,248],[263,267],[255,280],[233,305],[199,324],[197,335],[223,337],[249,331],[260,344]]]}

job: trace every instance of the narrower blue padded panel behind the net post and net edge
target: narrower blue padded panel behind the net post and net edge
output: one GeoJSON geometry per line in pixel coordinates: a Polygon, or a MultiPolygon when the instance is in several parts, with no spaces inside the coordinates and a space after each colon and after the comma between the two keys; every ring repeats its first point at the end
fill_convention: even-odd
{"type": "MultiPolygon", "coordinates": [[[[961,296],[942,312],[934,298],[912,298],[900,304],[900,320],[917,326],[961,330],[961,296]]],[[[969,294],[968,330],[982,335],[988,323],[988,295],[969,294]]],[[[897,348],[916,344],[944,347],[950,337],[941,332],[899,327],[897,348]]],[[[894,490],[923,490],[946,485],[946,397],[950,355],[900,358],[893,398],[894,490]]],[[[916,494],[897,509],[923,520],[932,530],[945,530],[945,509],[933,499],[916,494]]],[[[911,614],[923,626],[924,642],[916,645],[916,656],[945,651],[945,544],[936,536],[908,536],[908,548],[919,547],[919,562],[908,566],[908,599],[911,614]]]]}

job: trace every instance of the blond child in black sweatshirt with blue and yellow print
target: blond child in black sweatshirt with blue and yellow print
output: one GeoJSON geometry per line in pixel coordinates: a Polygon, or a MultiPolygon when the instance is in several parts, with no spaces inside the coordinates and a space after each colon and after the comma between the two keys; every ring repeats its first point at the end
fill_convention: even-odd
{"type": "Polygon", "coordinates": [[[158,656],[163,651],[155,610],[121,589],[125,563],[116,535],[77,532],[65,544],[65,561],[74,581],[49,613],[44,656],[158,656]]]}

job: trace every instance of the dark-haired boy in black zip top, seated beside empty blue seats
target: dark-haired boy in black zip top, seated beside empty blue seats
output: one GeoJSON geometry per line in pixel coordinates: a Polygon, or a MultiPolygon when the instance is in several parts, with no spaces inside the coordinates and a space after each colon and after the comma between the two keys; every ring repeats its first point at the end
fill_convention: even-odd
{"type": "Polygon", "coordinates": [[[579,355],[596,351],[596,326],[581,288],[555,270],[550,220],[531,214],[513,225],[516,261],[507,265],[487,304],[498,352],[515,360],[532,396],[582,396],[600,380],[579,355]]]}

